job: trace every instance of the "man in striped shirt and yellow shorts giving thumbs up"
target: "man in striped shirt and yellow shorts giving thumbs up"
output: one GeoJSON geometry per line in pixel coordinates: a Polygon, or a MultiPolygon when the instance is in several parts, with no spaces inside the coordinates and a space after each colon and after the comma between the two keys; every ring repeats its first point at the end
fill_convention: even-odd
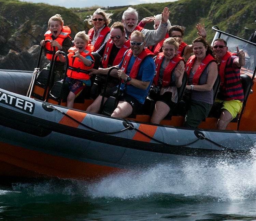
{"type": "Polygon", "coordinates": [[[213,51],[217,57],[218,73],[221,76],[221,86],[215,102],[222,103],[222,112],[217,123],[217,129],[225,130],[229,122],[240,113],[243,101],[243,87],[240,80],[240,68],[245,65],[245,53],[228,51],[227,42],[217,38],[213,42],[213,51]]]}

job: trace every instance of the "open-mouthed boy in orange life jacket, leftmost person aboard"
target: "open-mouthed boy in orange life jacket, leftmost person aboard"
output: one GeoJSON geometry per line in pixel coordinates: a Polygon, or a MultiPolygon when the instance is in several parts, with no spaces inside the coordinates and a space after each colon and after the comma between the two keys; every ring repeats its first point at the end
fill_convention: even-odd
{"type": "MultiPolygon", "coordinates": [[[[55,51],[61,50],[67,54],[68,49],[73,46],[72,39],[69,36],[71,30],[69,27],[63,26],[63,24],[61,15],[56,14],[52,16],[48,21],[49,30],[44,34],[45,39],[40,42],[41,46],[45,46],[45,55],[50,61],[53,56],[53,47],[55,47],[55,51]],[[50,41],[45,43],[45,40],[50,41]]],[[[49,67],[50,63],[44,69],[49,70],[49,67]]],[[[63,79],[64,72],[64,63],[57,59],[54,67],[54,82],[63,79]]]]}

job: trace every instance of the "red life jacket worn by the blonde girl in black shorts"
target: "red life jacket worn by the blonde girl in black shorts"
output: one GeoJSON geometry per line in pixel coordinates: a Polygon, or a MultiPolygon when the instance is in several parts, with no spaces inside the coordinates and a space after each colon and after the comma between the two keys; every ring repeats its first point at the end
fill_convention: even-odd
{"type": "MultiPolygon", "coordinates": [[[[159,79],[159,74],[160,74],[160,68],[161,68],[161,64],[163,62],[163,52],[160,52],[155,60],[156,63],[156,76],[153,79],[153,83],[155,86],[158,86],[158,79],[159,79]]],[[[171,81],[172,81],[172,70],[177,66],[177,64],[179,64],[180,61],[184,61],[184,59],[179,56],[179,55],[175,55],[172,60],[170,61],[170,63],[167,65],[167,67],[165,68],[165,70],[163,71],[163,80],[162,80],[162,87],[167,87],[170,85],[171,81]]]]}

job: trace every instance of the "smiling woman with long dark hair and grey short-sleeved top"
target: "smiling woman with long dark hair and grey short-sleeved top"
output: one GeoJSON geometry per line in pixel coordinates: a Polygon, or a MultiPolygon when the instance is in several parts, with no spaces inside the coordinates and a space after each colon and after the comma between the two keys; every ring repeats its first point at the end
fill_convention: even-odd
{"type": "Polygon", "coordinates": [[[184,101],[188,112],[184,126],[197,128],[208,116],[213,105],[213,85],[218,69],[213,49],[204,38],[196,38],[192,45],[194,55],[188,59],[185,68],[188,85],[186,85],[184,101]]]}

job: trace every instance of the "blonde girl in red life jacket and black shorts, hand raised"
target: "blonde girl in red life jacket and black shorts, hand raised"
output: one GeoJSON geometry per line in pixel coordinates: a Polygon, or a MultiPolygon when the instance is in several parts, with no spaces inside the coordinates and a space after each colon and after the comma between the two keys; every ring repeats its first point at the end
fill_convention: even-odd
{"type": "Polygon", "coordinates": [[[153,85],[157,93],[154,93],[155,98],[152,97],[156,104],[151,123],[160,123],[177,103],[177,88],[182,85],[185,63],[183,58],[177,55],[178,48],[179,43],[174,38],[167,38],[163,42],[163,52],[156,57],[156,75],[153,85]]]}

